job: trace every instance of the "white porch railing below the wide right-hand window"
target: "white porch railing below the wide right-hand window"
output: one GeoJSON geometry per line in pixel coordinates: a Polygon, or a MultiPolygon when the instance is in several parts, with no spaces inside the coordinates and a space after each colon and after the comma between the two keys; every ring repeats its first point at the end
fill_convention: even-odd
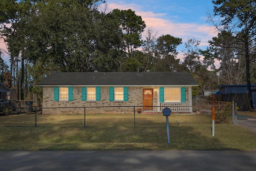
{"type": "Polygon", "coordinates": [[[192,112],[192,106],[188,101],[186,102],[161,102],[160,111],[165,107],[171,109],[172,112],[192,112]]]}

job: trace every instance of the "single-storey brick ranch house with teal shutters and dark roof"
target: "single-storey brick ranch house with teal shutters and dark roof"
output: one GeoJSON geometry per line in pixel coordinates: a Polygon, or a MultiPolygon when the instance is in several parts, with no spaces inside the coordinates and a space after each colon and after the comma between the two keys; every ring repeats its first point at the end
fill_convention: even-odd
{"type": "Polygon", "coordinates": [[[188,72],[64,72],[53,73],[37,84],[43,87],[42,114],[49,108],[136,106],[141,112],[192,112],[188,72]],[[178,107],[177,107],[178,106],[178,107]]]}

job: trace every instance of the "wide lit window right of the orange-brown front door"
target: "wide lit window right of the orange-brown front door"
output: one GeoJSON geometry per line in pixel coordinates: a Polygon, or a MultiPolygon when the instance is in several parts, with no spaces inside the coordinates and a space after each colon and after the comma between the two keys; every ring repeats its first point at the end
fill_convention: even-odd
{"type": "Polygon", "coordinates": [[[164,88],[164,101],[165,102],[180,101],[180,88],[164,88]]]}

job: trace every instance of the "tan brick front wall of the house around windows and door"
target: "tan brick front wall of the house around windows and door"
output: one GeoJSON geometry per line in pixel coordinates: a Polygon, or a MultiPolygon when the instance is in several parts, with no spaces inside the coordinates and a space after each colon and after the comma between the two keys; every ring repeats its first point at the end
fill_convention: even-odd
{"type": "MultiPolygon", "coordinates": [[[[148,88],[148,87],[144,87],[148,88]]],[[[158,105],[158,87],[153,89],[153,106],[158,105]]],[[[186,87],[186,101],[188,101],[188,88],[186,87]]],[[[143,87],[129,87],[128,101],[109,101],[109,87],[100,87],[100,101],[82,101],[82,87],[73,87],[72,101],[54,101],[54,87],[43,87],[43,114],[58,113],[83,113],[84,109],[65,108],[65,109],[44,109],[52,107],[107,107],[107,106],[142,106],[143,87]]],[[[93,111],[92,109],[90,109],[93,111]]],[[[129,109],[130,110],[130,109],[129,109]]],[[[137,110],[137,109],[136,109],[137,110]]],[[[154,107],[158,111],[159,107],[154,107]]],[[[104,111],[108,111],[107,108],[104,111]]],[[[109,108],[109,111],[112,111],[109,108]]],[[[97,111],[98,112],[98,111],[97,111]]]]}

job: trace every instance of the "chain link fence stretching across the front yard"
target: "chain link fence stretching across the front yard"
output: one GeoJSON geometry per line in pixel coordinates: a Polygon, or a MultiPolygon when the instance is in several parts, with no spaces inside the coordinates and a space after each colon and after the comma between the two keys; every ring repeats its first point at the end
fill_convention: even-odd
{"type": "MultiPolygon", "coordinates": [[[[192,111],[184,113],[175,106],[169,116],[170,125],[190,125],[212,123],[212,107],[215,108],[215,123],[236,123],[234,103],[200,100],[192,111]],[[200,111],[200,114],[196,114],[200,111]]],[[[166,117],[160,106],[112,106],[112,107],[54,107],[20,106],[15,111],[2,116],[0,126],[163,126],[166,117]],[[145,108],[151,108],[145,109],[145,108]],[[19,115],[17,115],[19,114],[19,115]],[[15,115],[17,117],[15,117],[15,115]]]]}

